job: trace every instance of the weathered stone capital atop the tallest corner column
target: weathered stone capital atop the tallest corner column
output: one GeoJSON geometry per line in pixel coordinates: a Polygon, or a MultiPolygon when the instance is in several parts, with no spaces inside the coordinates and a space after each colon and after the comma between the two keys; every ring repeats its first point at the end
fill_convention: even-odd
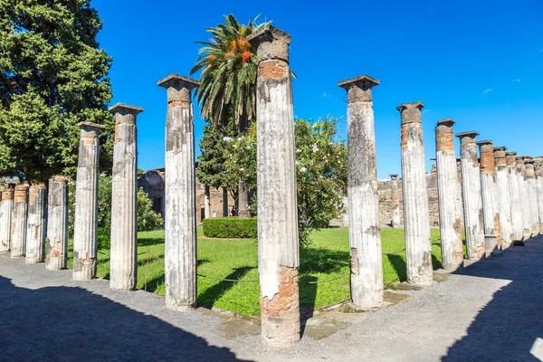
{"type": "Polygon", "coordinates": [[[289,62],[289,44],[291,35],[277,29],[272,25],[266,25],[262,29],[247,36],[247,41],[258,48],[258,61],[269,59],[281,59],[289,62]]]}

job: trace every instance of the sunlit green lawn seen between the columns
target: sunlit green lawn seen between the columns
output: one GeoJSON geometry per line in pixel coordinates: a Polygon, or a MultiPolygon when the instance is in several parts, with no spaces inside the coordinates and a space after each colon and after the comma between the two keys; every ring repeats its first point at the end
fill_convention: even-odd
{"type": "MultiPolygon", "coordinates": [[[[212,278],[258,281],[254,239],[205,238],[198,227],[198,273],[212,278]]],[[[348,228],[323,229],[311,235],[312,246],[300,254],[300,304],[319,309],[349,298],[348,228]],[[334,278],[338,278],[333,280],[334,278]],[[313,281],[328,281],[310,283],[313,281]]],[[[382,229],[383,279],[405,281],[403,229],[382,229]]],[[[164,294],[164,231],[138,233],[138,289],[164,294]],[[149,262],[147,259],[149,258],[149,262]],[[148,263],[148,266],[147,266],[148,263]]],[[[68,256],[69,264],[71,255],[68,256]]],[[[433,269],[441,268],[439,230],[432,229],[433,269]]],[[[71,265],[69,265],[71,267],[71,265]]],[[[110,250],[98,254],[98,276],[110,276],[110,250]]],[[[198,277],[198,304],[243,315],[260,313],[258,282],[215,281],[198,277]]]]}

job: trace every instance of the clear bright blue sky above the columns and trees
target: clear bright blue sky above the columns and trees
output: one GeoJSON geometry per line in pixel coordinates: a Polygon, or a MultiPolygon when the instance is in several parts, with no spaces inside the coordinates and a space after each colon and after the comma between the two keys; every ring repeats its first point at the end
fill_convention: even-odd
{"type": "MultiPolygon", "coordinates": [[[[538,0],[182,2],[93,0],[103,30],[100,47],[113,57],[112,104],[138,116],[138,167],[164,166],[166,91],[157,81],[188,75],[205,29],[234,14],[262,20],[291,34],[294,114],[342,117],[342,81],[368,74],[374,88],[377,174],[401,173],[400,116],[395,107],[421,100],[426,157],[435,156],[438,119],[456,120],[455,132],[477,130],[519,155],[543,155],[543,2],[538,0]]],[[[195,106],[196,148],[204,122],[195,106]]],[[[456,140],[458,153],[458,140],[456,140]]],[[[196,151],[199,153],[199,151],[196,151]]],[[[428,161],[426,167],[430,168],[428,161]]]]}

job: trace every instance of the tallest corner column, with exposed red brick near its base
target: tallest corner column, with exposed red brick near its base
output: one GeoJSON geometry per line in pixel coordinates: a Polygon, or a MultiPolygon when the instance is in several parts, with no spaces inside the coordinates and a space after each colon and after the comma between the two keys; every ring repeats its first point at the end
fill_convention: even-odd
{"type": "Polygon", "coordinates": [[[257,209],[262,341],[284,346],[300,340],[291,36],[268,25],[247,40],[258,49],[257,209]]]}

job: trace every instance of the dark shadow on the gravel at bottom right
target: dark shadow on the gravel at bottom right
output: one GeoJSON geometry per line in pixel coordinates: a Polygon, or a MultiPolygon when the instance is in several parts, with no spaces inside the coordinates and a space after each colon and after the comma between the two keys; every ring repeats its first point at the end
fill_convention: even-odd
{"type": "MultiPolygon", "coordinates": [[[[530,353],[543,338],[543,236],[510,248],[500,258],[476,262],[457,274],[503,279],[477,314],[467,336],[449,348],[443,361],[539,361],[530,353]]],[[[542,357],[542,356],[539,356],[542,357]]]]}

